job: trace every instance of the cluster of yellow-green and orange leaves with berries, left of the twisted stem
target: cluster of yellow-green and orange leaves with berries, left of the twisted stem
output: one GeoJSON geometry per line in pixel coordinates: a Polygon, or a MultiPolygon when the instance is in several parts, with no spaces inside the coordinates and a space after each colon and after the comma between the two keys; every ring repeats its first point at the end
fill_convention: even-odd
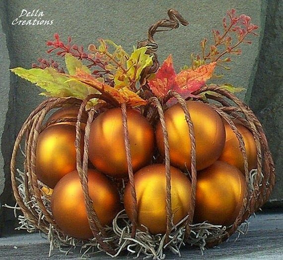
{"type": "MultiPolygon", "coordinates": [[[[146,101],[136,93],[142,70],[152,65],[152,57],[145,53],[146,47],[134,49],[133,53],[128,55],[121,46],[114,42],[100,39],[99,47],[90,45],[89,50],[92,53],[88,54],[90,58],[87,58],[87,60],[99,60],[99,64],[103,64],[105,73],[97,74],[90,70],[95,65],[82,63],[83,59],[86,59],[85,55],[74,54],[70,51],[73,47],[70,44],[66,47],[59,40],[57,34],[55,39],[56,46],[59,47],[53,47],[48,50],[48,53],[58,48],[64,49],[64,51],[59,51],[57,55],[65,57],[67,73],[60,71],[59,65],[55,64],[53,60],[46,62],[43,59],[39,60],[41,66],[34,65],[32,69],[14,68],[11,71],[44,89],[42,95],[79,99],[84,99],[89,94],[105,97],[93,98],[89,105],[104,102],[105,99],[111,100],[114,105],[126,103],[129,106],[139,106],[146,104],[146,101]],[[110,51],[110,46],[112,51],[110,51]]],[[[68,42],[71,42],[70,37],[68,42]]],[[[78,49],[83,51],[82,48],[78,49]]]]}

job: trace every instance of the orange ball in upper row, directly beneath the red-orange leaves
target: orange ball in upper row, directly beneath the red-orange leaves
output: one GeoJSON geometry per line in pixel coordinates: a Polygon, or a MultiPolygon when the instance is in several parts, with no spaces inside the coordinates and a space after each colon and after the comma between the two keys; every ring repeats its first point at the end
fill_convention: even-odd
{"type": "MultiPolygon", "coordinates": [[[[221,155],[225,143],[225,129],[221,118],[200,101],[187,101],[196,138],[196,167],[202,170],[212,165],[221,155]]],[[[185,113],[179,104],[164,113],[168,132],[171,164],[179,169],[191,168],[191,139],[185,113]]],[[[164,157],[163,134],[160,122],[156,126],[156,143],[164,157]]]]}

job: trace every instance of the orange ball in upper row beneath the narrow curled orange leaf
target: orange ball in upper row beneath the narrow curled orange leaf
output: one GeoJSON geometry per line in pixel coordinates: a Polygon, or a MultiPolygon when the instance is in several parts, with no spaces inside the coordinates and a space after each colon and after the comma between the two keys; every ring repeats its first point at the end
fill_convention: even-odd
{"type": "MultiPolygon", "coordinates": [[[[127,109],[127,116],[132,164],[134,171],[137,171],[151,160],[154,132],[138,111],[127,109]]],[[[92,122],[89,160],[98,171],[107,175],[128,174],[121,108],[109,109],[92,122]]]]}

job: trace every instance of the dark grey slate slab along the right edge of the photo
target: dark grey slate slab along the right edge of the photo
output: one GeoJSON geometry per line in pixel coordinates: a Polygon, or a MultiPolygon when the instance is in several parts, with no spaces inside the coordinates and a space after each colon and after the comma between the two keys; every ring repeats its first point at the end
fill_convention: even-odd
{"type": "Polygon", "coordinates": [[[276,166],[277,181],[271,201],[283,202],[283,2],[268,2],[265,33],[250,104],[259,117],[276,166]]]}

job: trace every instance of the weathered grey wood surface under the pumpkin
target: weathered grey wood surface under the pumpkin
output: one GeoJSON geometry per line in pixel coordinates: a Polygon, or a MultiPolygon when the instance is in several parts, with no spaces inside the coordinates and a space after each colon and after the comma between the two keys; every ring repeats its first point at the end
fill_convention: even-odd
{"type": "MultiPolygon", "coordinates": [[[[168,252],[166,259],[282,259],[283,260],[283,213],[258,214],[256,218],[249,219],[249,232],[241,235],[235,242],[237,236],[232,236],[227,242],[219,247],[208,249],[202,255],[198,249],[183,249],[182,256],[173,255],[168,252]]],[[[39,234],[21,234],[0,238],[0,259],[7,260],[61,260],[81,259],[79,253],[65,255],[55,249],[48,258],[49,243],[41,238],[39,234]]],[[[112,259],[99,253],[92,259],[112,259]]],[[[131,259],[126,255],[118,258],[131,259]]]]}

